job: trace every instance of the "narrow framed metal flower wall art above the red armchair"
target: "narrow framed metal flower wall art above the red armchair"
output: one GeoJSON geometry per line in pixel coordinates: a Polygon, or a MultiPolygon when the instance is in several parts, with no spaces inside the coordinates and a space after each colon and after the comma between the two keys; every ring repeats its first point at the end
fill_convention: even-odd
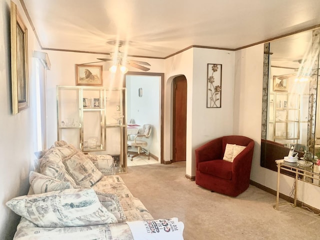
{"type": "Polygon", "coordinates": [[[207,64],[206,107],[221,107],[222,64],[207,64]]]}

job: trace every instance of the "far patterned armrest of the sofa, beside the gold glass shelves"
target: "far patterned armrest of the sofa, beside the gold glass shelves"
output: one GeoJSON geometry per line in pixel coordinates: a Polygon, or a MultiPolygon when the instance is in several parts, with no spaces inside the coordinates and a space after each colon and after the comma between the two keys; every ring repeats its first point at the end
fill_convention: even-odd
{"type": "Polygon", "coordinates": [[[103,175],[115,174],[115,164],[111,155],[86,155],[103,175]]]}

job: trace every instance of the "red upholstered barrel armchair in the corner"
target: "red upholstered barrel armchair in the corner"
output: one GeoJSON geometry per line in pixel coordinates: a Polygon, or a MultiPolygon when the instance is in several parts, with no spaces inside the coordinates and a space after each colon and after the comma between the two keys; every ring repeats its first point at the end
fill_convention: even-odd
{"type": "Polygon", "coordinates": [[[237,196],[249,187],[254,141],[246,136],[222,136],[195,149],[195,183],[206,189],[237,196]],[[223,160],[226,143],[245,146],[233,159],[223,160]]]}

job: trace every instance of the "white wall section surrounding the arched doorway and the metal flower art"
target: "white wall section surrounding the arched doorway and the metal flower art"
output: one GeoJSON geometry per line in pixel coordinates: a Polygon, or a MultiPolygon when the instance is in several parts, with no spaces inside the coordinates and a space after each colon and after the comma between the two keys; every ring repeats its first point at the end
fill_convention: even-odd
{"type": "Polygon", "coordinates": [[[212,138],[232,134],[234,52],[192,48],[166,59],[164,159],[168,160],[169,129],[172,109],[170,84],[183,74],[187,81],[186,174],[195,175],[194,149],[212,138]],[[221,108],[206,108],[207,63],[222,64],[221,108]]]}

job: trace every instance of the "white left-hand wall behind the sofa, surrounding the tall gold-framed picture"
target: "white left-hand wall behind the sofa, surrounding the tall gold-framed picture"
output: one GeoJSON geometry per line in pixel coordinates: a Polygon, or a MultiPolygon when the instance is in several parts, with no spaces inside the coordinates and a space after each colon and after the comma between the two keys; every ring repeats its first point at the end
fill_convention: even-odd
{"type": "Polygon", "coordinates": [[[28,28],[30,107],[16,115],[11,113],[10,1],[0,0],[0,239],[13,237],[20,217],[5,202],[27,193],[28,173],[33,169],[33,152],[37,150],[32,50],[38,50],[38,46],[19,1],[14,2],[28,28]]]}

